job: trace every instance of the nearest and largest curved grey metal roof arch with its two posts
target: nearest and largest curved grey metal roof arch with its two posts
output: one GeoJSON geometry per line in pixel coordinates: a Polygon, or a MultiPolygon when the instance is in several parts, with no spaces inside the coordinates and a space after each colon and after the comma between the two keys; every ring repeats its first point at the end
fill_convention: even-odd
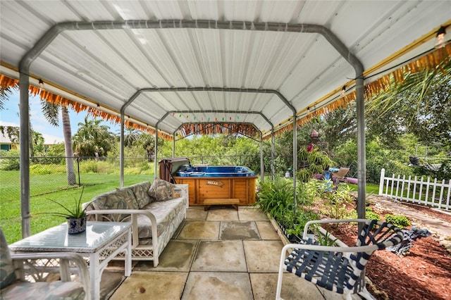
{"type": "MultiPolygon", "coordinates": [[[[359,202],[357,207],[357,213],[359,217],[364,216],[364,199],[365,199],[365,137],[364,137],[364,77],[363,77],[363,65],[359,59],[347,49],[336,35],[322,25],[314,24],[287,24],[287,23],[253,23],[245,21],[217,21],[217,20],[128,20],[128,21],[97,21],[97,22],[67,22],[58,23],[52,26],[35,44],[35,46],[27,51],[25,56],[20,60],[19,73],[20,91],[27,91],[30,83],[28,77],[30,72],[30,65],[39,54],[47,48],[47,46],[64,30],[114,30],[114,29],[170,29],[170,28],[204,28],[204,29],[221,29],[221,30],[258,30],[258,31],[272,31],[272,32],[306,32],[306,33],[319,33],[325,37],[328,42],[340,53],[340,55],[346,59],[352,65],[356,73],[356,93],[357,93],[357,153],[359,154],[359,171],[358,180],[361,182],[359,185],[359,202]],[[363,114],[362,114],[363,113],[363,114]],[[361,188],[363,187],[363,188],[361,188]],[[363,200],[362,200],[363,199],[363,200]]],[[[20,159],[20,181],[23,183],[24,188],[21,189],[21,202],[22,205],[27,202],[27,207],[22,210],[23,213],[23,236],[27,237],[30,234],[30,161],[27,151],[29,146],[28,136],[30,135],[30,128],[28,118],[24,115],[28,115],[28,93],[20,93],[20,153],[23,154],[20,159]],[[24,223],[25,220],[25,223],[24,223]],[[23,226],[24,227],[24,226],[23,226]]],[[[289,106],[293,111],[293,124],[296,123],[296,111],[292,105],[289,106]]],[[[125,108],[124,108],[125,109],[125,108]]],[[[121,108],[122,111],[122,108],[121,108]]],[[[121,114],[121,119],[123,114],[121,114]]],[[[121,122],[121,125],[123,123],[121,122]]],[[[158,127],[156,127],[158,130],[158,127]]],[[[296,133],[296,126],[293,130],[296,133]]],[[[121,132],[121,135],[123,132],[121,132]]],[[[293,149],[295,151],[296,139],[293,137],[293,149]]],[[[293,152],[294,152],[293,151],[293,152]]],[[[296,169],[296,156],[293,154],[293,167],[296,169]]],[[[122,182],[121,182],[122,183],[122,182]]],[[[296,181],[294,181],[296,185],[296,181]]],[[[295,200],[296,201],[296,200],[295,200]]]]}

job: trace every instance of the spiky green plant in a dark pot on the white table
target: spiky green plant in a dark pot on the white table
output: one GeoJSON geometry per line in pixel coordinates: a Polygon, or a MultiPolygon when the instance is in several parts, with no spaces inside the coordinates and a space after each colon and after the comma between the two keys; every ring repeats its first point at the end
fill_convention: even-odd
{"type": "Polygon", "coordinates": [[[82,188],[82,192],[80,194],[80,198],[75,200],[75,206],[68,207],[65,206],[58,201],[53,199],[49,199],[50,201],[58,204],[62,208],[64,208],[65,212],[63,213],[50,213],[51,215],[56,215],[58,217],[64,217],[68,220],[68,234],[75,235],[77,233],[85,232],[86,230],[86,208],[82,208],[82,195],[85,187],[82,188]]]}

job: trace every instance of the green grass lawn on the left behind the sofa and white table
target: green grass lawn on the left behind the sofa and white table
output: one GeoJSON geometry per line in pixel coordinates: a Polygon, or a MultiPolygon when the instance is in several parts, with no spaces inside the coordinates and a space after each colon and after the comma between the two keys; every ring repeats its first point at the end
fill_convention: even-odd
{"type": "MultiPolygon", "coordinates": [[[[89,202],[94,196],[119,187],[117,174],[82,174],[84,187],[82,203],[89,202]]],[[[0,171],[0,227],[4,231],[8,244],[22,239],[20,215],[20,175],[18,171],[0,171]]],[[[137,182],[152,181],[153,175],[125,175],[124,186],[137,182]]],[[[63,208],[49,201],[55,200],[70,206],[78,201],[82,187],[70,187],[66,175],[46,174],[30,175],[30,225],[31,234],[46,230],[66,222],[62,217],[49,215],[51,212],[63,212],[63,208]]]]}

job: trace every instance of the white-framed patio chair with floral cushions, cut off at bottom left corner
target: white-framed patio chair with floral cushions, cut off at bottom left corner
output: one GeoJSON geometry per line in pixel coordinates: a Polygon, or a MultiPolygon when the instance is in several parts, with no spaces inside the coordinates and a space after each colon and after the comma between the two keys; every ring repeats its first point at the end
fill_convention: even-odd
{"type": "Polygon", "coordinates": [[[89,271],[82,256],[11,254],[0,228],[0,299],[90,299],[90,295],[89,271]]]}

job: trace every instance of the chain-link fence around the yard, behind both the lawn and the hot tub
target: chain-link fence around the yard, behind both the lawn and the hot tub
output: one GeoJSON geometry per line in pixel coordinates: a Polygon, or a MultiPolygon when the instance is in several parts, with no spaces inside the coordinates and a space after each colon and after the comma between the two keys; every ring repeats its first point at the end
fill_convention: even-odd
{"type": "MultiPolygon", "coordinates": [[[[159,158],[161,159],[161,158],[159,158]]],[[[190,163],[208,165],[244,165],[260,173],[259,155],[190,156],[190,163]]],[[[336,157],[336,161],[345,161],[336,157]]],[[[265,158],[265,173],[271,173],[270,161],[265,158]]],[[[357,165],[350,165],[350,176],[357,165]]],[[[18,156],[0,157],[1,202],[20,199],[20,159],[18,156]]],[[[285,173],[285,170],[280,170],[285,173]]],[[[156,175],[158,176],[158,174],[156,175]]],[[[154,162],[147,158],[124,159],[124,185],[154,179],[154,162]]],[[[30,196],[61,192],[86,185],[116,184],[120,182],[120,158],[44,156],[30,158],[30,196]],[[66,162],[73,165],[72,177],[66,171],[66,162]]]]}

